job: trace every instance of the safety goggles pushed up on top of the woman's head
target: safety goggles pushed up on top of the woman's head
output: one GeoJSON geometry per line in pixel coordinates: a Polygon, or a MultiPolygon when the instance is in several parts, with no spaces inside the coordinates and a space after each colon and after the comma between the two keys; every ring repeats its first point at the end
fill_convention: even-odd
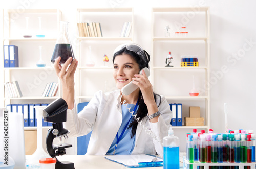
{"type": "Polygon", "coordinates": [[[140,45],[135,44],[135,43],[126,43],[126,44],[119,45],[114,50],[114,55],[116,52],[124,49],[124,47],[126,47],[127,50],[135,52],[136,54],[140,55],[141,58],[145,61],[145,63],[148,63],[148,58],[146,57],[144,50],[142,49],[142,47],[140,45]]]}

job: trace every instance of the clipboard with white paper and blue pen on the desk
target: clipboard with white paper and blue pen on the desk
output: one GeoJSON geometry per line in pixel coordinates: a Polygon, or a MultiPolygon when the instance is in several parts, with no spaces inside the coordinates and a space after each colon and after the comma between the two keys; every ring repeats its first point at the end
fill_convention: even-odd
{"type": "Polygon", "coordinates": [[[163,166],[161,157],[150,154],[109,155],[105,159],[124,165],[127,168],[163,166]],[[155,158],[154,161],[152,161],[155,158]]]}

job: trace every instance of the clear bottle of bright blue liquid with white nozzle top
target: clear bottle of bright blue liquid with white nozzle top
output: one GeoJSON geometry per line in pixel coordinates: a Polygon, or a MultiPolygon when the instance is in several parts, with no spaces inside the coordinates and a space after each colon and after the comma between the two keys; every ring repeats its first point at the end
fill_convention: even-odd
{"type": "Polygon", "coordinates": [[[170,127],[168,136],[163,138],[163,168],[180,168],[180,147],[179,138],[174,136],[174,131],[170,127]]]}

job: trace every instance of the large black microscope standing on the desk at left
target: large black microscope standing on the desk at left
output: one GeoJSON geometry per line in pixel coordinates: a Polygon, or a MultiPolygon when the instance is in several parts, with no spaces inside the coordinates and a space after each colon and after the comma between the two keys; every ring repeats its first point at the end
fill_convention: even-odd
{"type": "MultiPolygon", "coordinates": [[[[70,132],[69,130],[63,128],[63,122],[67,120],[67,109],[68,105],[65,100],[62,98],[56,99],[51,104],[49,104],[43,111],[44,121],[52,122],[51,129],[48,130],[48,134],[46,137],[46,149],[49,155],[52,158],[56,158],[56,156],[66,154],[65,148],[72,147],[71,144],[62,143],[62,137],[68,138],[67,134],[70,132]],[[58,137],[60,144],[53,144],[53,139],[58,137]]],[[[74,169],[74,163],[68,161],[58,161],[55,164],[55,169],[74,169]]]]}

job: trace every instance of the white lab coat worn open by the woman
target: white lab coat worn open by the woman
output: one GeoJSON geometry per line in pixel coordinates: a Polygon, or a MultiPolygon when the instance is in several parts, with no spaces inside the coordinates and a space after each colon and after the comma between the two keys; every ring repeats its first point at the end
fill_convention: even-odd
{"type": "MultiPolygon", "coordinates": [[[[145,117],[142,120],[144,128],[151,130],[161,140],[168,135],[172,112],[166,99],[161,96],[158,107],[161,115],[157,123],[150,123],[145,117]]],[[[158,97],[157,105],[160,98],[158,97]]],[[[131,110],[132,111],[132,110],[131,110]]],[[[120,90],[103,93],[98,91],[90,103],[77,114],[76,108],[67,111],[67,122],[64,127],[70,130],[68,136],[86,135],[92,130],[86,155],[105,155],[108,152],[116,133],[122,123],[122,108],[120,90]]],[[[162,141],[156,141],[138,124],[135,147],[132,154],[156,154],[163,156],[162,141]]]]}

